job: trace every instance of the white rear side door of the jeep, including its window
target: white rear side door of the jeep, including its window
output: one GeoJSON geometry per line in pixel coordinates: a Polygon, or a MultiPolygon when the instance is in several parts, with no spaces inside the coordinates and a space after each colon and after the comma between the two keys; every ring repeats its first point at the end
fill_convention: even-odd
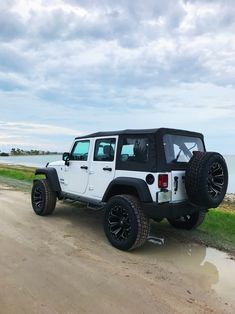
{"type": "Polygon", "coordinates": [[[97,138],[89,171],[87,196],[102,199],[115,175],[117,136],[97,138]]]}

